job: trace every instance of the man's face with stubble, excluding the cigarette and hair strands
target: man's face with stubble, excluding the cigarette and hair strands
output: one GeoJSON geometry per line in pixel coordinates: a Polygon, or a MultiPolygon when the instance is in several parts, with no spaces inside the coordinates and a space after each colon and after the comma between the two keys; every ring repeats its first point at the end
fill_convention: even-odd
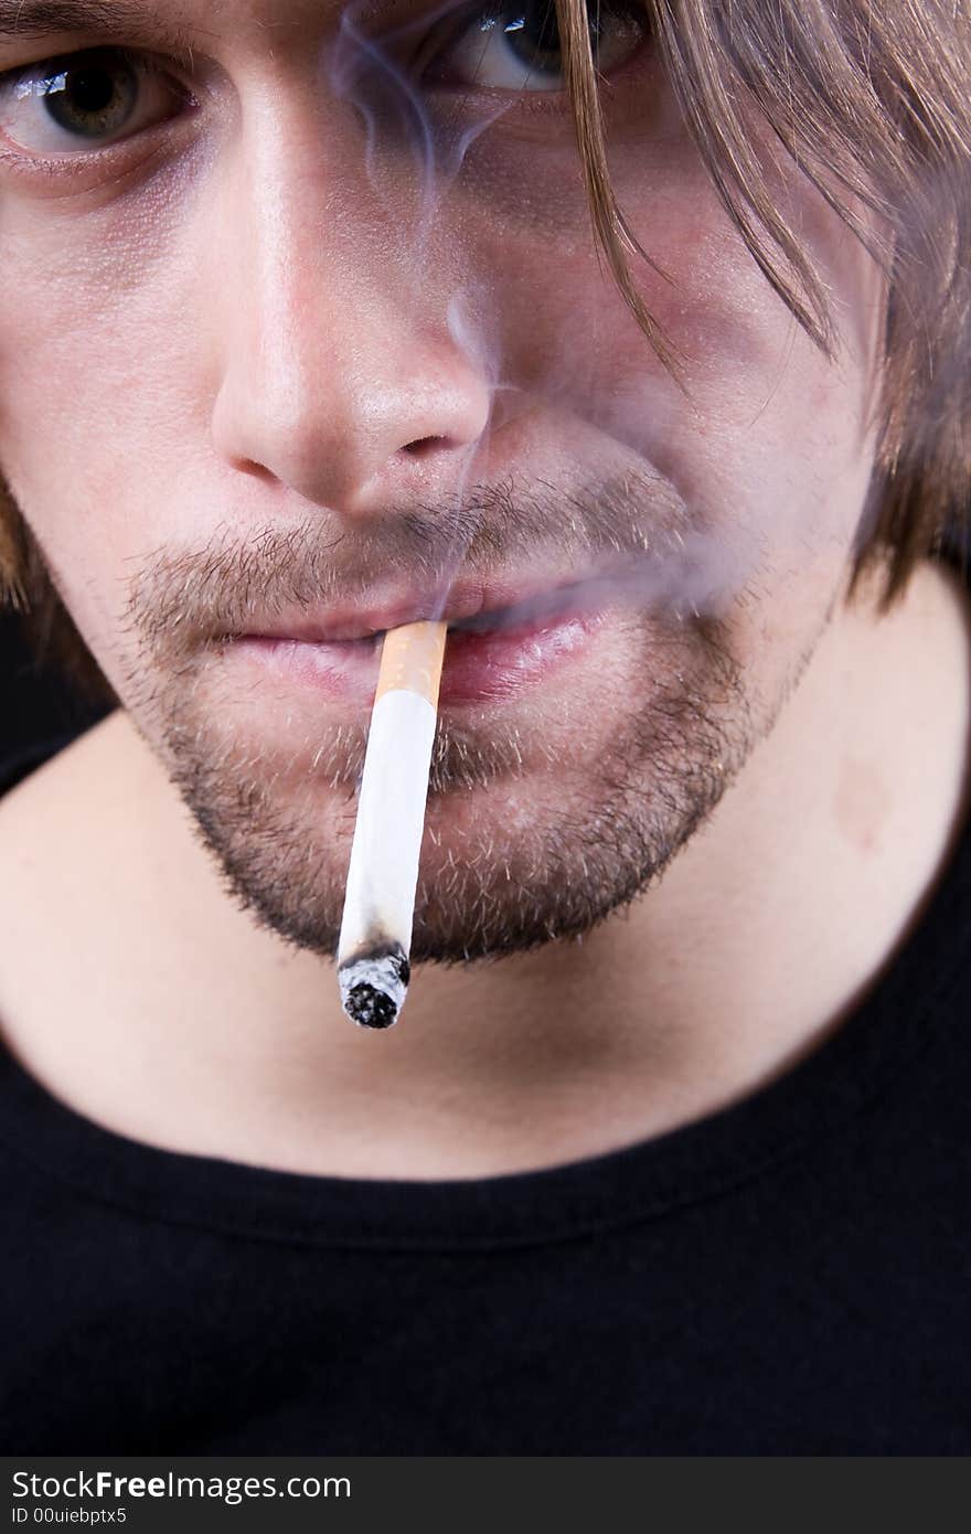
{"type": "Polygon", "coordinates": [[[414,954],[581,931],[712,810],[842,591],[873,268],[776,167],[827,362],[624,9],[611,169],[678,377],[594,247],[541,9],[29,8],[0,0],[0,463],[229,885],[333,951],[368,634],[485,607],[446,649],[414,954]]]}

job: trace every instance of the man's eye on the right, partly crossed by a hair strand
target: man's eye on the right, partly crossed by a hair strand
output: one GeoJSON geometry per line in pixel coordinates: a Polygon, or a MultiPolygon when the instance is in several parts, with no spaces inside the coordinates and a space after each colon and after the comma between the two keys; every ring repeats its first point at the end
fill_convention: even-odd
{"type": "MultiPolygon", "coordinates": [[[[609,77],[649,35],[638,0],[588,0],[594,64],[609,77]]],[[[491,91],[563,91],[563,51],[554,0],[511,0],[466,9],[425,71],[425,84],[491,91]]]]}

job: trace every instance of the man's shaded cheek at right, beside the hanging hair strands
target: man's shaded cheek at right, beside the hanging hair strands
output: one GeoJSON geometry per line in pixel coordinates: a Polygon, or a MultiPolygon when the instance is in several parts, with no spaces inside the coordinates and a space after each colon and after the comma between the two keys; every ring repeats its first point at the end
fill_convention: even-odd
{"type": "Polygon", "coordinates": [[[772,291],[690,156],[672,150],[666,170],[627,196],[647,253],[670,275],[630,258],[683,388],[589,241],[552,261],[529,232],[503,232],[500,242],[483,224],[480,249],[506,278],[503,376],[522,390],[500,400],[500,419],[538,402],[583,422],[609,445],[604,456],[672,480],[690,515],[727,545],[742,537],[746,574],[770,563],[792,580],[818,558],[831,572],[847,558],[871,474],[880,293],[859,245],[819,204],[813,193],[802,227],[842,327],[834,362],[772,291]]]}

